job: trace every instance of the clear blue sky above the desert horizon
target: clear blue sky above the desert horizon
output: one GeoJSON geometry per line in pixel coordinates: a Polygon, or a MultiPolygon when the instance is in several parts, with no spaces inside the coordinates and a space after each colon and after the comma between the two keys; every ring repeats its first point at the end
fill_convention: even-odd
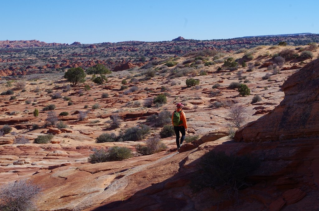
{"type": "Polygon", "coordinates": [[[319,33],[319,1],[0,0],[0,40],[81,43],[319,33]]]}

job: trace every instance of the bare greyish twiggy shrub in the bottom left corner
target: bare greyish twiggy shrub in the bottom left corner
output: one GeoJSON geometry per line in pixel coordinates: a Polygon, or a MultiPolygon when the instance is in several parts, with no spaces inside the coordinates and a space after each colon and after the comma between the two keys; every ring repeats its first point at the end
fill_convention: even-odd
{"type": "Polygon", "coordinates": [[[21,179],[1,186],[0,210],[32,211],[37,210],[35,203],[39,200],[42,188],[30,180],[21,179]]]}

